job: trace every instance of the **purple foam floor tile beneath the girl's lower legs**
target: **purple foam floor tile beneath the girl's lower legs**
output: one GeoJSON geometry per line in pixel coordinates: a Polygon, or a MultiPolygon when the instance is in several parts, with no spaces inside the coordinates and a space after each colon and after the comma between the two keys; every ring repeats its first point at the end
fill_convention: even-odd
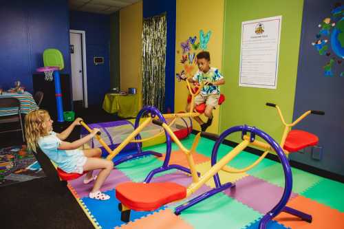
{"type": "MultiPolygon", "coordinates": [[[[100,170],[94,171],[93,175],[98,175],[100,170]]],[[[79,177],[78,179],[73,179],[69,181],[68,183],[72,185],[74,190],[76,190],[76,193],[78,193],[80,198],[88,197],[89,192],[92,190],[94,186],[94,182],[90,182],[89,184],[84,184],[83,180],[85,179],[85,175],[82,177],[79,177]]],[[[100,188],[102,191],[107,191],[114,189],[118,184],[122,182],[130,182],[130,179],[125,175],[125,173],[122,173],[118,169],[113,169],[105,180],[104,184],[100,188]]]]}

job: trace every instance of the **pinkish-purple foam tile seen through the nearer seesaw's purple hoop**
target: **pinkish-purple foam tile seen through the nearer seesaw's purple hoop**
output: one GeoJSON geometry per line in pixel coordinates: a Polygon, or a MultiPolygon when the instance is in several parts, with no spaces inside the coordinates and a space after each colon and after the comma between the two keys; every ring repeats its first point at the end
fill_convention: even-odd
{"type": "MultiPolygon", "coordinates": [[[[235,187],[224,190],[224,193],[265,214],[277,205],[283,195],[283,188],[249,175],[236,182],[235,187]]],[[[296,193],[290,195],[290,199],[294,197],[297,197],[296,193]]]]}

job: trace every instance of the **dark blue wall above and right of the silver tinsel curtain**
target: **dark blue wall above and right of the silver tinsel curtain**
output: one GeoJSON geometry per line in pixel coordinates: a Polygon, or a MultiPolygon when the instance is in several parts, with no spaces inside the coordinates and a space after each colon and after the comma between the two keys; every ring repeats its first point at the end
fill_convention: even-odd
{"type": "Polygon", "coordinates": [[[166,75],[165,75],[165,109],[174,112],[175,80],[175,0],[143,0],[143,17],[153,17],[166,12],[166,75]]]}

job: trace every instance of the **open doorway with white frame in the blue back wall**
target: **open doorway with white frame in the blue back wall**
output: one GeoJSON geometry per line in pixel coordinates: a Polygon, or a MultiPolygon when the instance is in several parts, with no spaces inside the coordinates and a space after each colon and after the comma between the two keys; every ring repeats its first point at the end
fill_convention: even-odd
{"type": "Polygon", "coordinates": [[[69,30],[69,51],[74,106],[88,107],[85,31],[69,30]]]}

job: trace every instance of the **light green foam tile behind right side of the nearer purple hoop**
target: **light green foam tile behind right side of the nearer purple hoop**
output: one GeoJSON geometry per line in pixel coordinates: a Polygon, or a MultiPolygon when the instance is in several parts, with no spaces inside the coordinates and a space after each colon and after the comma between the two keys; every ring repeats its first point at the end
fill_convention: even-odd
{"type": "MultiPolygon", "coordinates": [[[[281,164],[276,163],[272,166],[268,166],[252,175],[264,179],[271,184],[284,187],[284,173],[281,164]]],[[[322,177],[317,175],[301,171],[297,168],[292,168],[292,191],[294,193],[302,193],[322,179],[322,177]]]]}

